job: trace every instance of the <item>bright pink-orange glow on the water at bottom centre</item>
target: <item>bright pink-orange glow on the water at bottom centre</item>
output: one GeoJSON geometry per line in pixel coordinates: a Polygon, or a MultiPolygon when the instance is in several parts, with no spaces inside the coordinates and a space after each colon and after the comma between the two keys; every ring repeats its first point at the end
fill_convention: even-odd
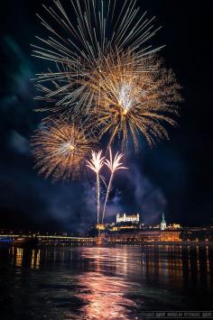
{"type": "Polygon", "coordinates": [[[125,297],[128,284],[124,279],[88,272],[79,277],[81,292],[77,295],[83,302],[80,312],[88,319],[126,319],[136,304],[125,297]],[[128,310],[129,309],[129,310],[128,310]]]}

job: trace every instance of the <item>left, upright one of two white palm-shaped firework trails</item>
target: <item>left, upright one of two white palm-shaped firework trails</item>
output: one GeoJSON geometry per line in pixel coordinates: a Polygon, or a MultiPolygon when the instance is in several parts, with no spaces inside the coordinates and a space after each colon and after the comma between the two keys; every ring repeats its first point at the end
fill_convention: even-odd
{"type": "Polygon", "coordinates": [[[102,151],[92,151],[92,159],[87,160],[87,167],[93,170],[97,176],[97,224],[99,224],[99,215],[100,215],[100,178],[99,172],[104,165],[105,157],[101,158],[102,151]]]}

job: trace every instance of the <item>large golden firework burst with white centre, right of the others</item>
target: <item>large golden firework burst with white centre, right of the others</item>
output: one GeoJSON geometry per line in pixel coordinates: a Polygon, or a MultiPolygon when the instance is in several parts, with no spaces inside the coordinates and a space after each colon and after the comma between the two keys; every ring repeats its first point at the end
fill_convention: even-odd
{"type": "Polygon", "coordinates": [[[96,115],[100,137],[109,133],[108,146],[119,137],[125,151],[131,135],[137,151],[139,133],[153,145],[168,138],[164,123],[176,124],[180,86],[155,57],[140,59],[131,52],[108,55],[87,86],[95,97],[92,119],[96,115]]]}

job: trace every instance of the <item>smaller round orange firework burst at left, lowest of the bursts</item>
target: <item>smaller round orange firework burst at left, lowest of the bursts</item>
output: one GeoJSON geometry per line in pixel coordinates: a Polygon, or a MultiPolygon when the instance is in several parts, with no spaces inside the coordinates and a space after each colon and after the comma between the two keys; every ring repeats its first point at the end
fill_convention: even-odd
{"type": "Polygon", "coordinates": [[[78,178],[93,144],[79,123],[51,119],[32,136],[36,168],[53,180],[78,178]]]}

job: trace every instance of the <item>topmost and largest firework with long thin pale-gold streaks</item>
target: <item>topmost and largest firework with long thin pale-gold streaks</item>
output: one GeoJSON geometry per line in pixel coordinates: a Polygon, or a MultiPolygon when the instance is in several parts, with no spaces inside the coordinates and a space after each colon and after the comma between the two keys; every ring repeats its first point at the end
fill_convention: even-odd
{"type": "Polygon", "coordinates": [[[50,7],[43,5],[47,21],[38,15],[50,36],[47,39],[36,37],[41,44],[32,45],[32,55],[57,66],[53,71],[49,69],[36,75],[37,87],[42,92],[38,98],[54,103],[53,107],[41,111],[71,109],[75,113],[86,109],[88,112],[93,93],[80,80],[100,69],[102,59],[109,52],[120,54],[128,48],[142,59],[161,49],[145,46],[159,28],[154,28],[154,18],[140,14],[134,0],[125,1],[122,7],[116,0],[107,3],[72,0],[69,5],[74,13],[70,19],[66,13],[68,8],[65,10],[59,0],[50,7]]]}

